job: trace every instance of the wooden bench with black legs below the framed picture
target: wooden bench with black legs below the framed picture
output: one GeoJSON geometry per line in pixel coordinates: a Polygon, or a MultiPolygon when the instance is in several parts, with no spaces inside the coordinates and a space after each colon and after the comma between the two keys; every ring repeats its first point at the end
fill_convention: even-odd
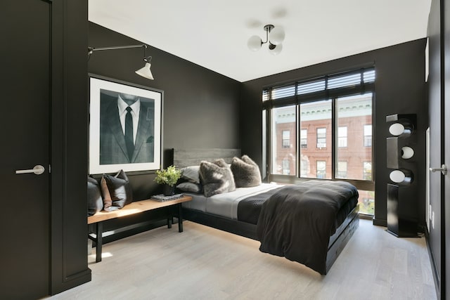
{"type": "MultiPolygon", "coordinates": [[[[102,235],[103,235],[103,221],[110,219],[120,218],[122,216],[131,216],[133,214],[139,214],[143,211],[150,211],[153,209],[160,209],[162,207],[169,207],[172,205],[178,205],[178,231],[183,232],[183,216],[181,214],[181,203],[191,201],[191,196],[183,196],[182,198],[159,202],[156,200],[141,200],[131,202],[125,205],[122,209],[115,211],[98,211],[94,216],[87,217],[87,223],[96,224],[95,237],[88,235],[89,239],[96,242],[96,263],[101,261],[101,248],[102,248],[102,235]]],[[[172,228],[172,215],[167,215],[167,227],[172,228]]]]}

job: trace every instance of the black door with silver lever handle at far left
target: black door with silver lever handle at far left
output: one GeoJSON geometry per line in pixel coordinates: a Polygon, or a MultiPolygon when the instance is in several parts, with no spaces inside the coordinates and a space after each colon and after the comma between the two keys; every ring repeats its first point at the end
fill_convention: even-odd
{"type": "Polygon", "coordinates": [[[37,299],[50,282],[51,6],[2,1],[0,28],[0,299],[37,299]]]}

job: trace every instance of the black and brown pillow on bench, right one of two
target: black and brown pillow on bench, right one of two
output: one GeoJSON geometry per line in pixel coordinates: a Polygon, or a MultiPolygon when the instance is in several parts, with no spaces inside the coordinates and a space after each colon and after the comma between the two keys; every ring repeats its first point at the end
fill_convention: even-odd
{"type": "Polygon", "coordinates": [[[115,176],[103,174],[100,186],[105,211],[121,209],[133,202],[131,186],[129,186],[127,174],[123,170],[120,170],[115,176]]]}

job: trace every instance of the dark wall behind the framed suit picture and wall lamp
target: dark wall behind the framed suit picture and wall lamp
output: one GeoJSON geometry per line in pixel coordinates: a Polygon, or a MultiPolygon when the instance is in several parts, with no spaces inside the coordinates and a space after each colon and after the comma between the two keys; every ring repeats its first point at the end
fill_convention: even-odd
{"type": "MultiPolygon", "coordinates": [[[[89,46],[142,44],[89,22],[89,46]]],[[[182,45],[181,45],[182,46],[182,45]]],[[[240,148],[240,83],[150,46],[155,80],[134,73],[143,66],[141,48],[95,52],[89,72],[164,91],[164,167],[172,164],[171,148],[240,148]]],[[[134,199],[159,193],[153,174],[129,175],[134,199]]]]}

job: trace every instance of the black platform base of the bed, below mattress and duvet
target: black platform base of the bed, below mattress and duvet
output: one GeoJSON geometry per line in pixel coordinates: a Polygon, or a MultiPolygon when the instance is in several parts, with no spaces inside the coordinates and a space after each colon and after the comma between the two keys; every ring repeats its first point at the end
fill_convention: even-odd
{"type": "MultiPolygon", "coordinates": [[[[333,263],[338,259],[339,254],[344,249],[350,237],[359,226],[359,204],[348,214],[345,221],[336,229],[335,234],[330,237],[328,244],[328,254],[326,257],[326,273],[330,270],[333,263]]],[[[245,223],[238,220],[231,220],[222,216],[207,214],[202,211],[183,208],[184,219],[210,226],[229,233],[248,237],[252,240],[257,238],[257,226],[255,224],[245,223]]]]}

